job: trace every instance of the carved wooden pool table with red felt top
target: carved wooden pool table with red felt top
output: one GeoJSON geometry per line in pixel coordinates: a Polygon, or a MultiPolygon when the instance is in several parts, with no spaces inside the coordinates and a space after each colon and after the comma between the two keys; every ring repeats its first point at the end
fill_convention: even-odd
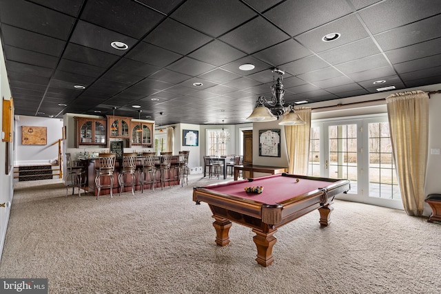
{"type": "Polygon", "coordinates": [[[256,261],[269,266],[279,227],[318,209],[320,225],[327,226],[334,197],[349,191],[349,180],[277,174],[217,185],[193,188],[193,201],[206,202],[212,210],[216,244],[229,244],[232,222],[252,228],[256,233],[256,261]],[[263,187],[261,193],[249,193],[245,187],[263,187]]]}

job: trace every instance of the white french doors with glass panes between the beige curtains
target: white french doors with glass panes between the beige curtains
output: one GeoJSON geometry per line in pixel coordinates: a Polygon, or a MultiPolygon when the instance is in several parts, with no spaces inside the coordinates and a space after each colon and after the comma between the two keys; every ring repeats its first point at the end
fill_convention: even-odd
{"type": "Polygon", "coordinates": [[[402,209],[387,115],[311,124],[311,176],[351,181],[343,200],[402,209]]]}

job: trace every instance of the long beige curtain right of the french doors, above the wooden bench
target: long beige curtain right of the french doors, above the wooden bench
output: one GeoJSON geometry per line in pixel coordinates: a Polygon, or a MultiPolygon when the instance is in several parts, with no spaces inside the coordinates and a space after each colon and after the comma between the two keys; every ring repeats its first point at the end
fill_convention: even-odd
{"type": "Polygon", "coordinates": [[[404,210],[422,216],[429,141],[429,94],[403,92],[386,98],[387,114],[404,210]]]}

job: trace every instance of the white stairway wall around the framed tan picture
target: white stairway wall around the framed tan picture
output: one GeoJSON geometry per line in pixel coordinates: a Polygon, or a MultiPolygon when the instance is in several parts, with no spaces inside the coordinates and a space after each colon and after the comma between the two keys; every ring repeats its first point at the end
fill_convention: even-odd
{"type": "Polygon", "coordinates": [[[59,118],[44,118],[37,116],[15,116],[14,145],[16,158],[14,165],[47,165],[58,159],[58,144],[62,138],[63,120],[59,118]],[[22,145],[21,127],[47,127],[46,145],[22,145]]]}

